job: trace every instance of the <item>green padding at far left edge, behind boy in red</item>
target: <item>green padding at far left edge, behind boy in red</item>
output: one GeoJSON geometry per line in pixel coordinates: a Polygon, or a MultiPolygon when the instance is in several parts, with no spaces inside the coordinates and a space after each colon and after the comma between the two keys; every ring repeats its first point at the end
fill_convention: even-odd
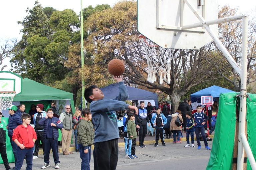
{"type": "MultiPolygon", "coordinates": [[[[7,153],[7,158],[8,158],[8,162],[12,163],[14,162],[14,155],[12,153],[12,146],[11,146],[11,142],[10,142],[10,138],[8,136],[8,132],[6,129],[6,125],[8,124],[9,118],[4,118],[2,117],[1,123],[0,123],[0,128],[4,128],[4,130],[6,131],[6,153],[7,153]]],[[[0,156],[0,164],[3,164],[3,160],[2,157],[0,156]]]]}

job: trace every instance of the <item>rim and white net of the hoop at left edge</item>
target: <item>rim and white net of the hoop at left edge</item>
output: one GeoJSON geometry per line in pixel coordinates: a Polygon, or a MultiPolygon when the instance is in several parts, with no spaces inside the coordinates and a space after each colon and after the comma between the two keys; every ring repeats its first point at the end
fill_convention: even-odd
{"type": "Polygon", "coordinates": [[[5,110],[12,105],[16,92],[0,92],[0,109],[5,110]]]}

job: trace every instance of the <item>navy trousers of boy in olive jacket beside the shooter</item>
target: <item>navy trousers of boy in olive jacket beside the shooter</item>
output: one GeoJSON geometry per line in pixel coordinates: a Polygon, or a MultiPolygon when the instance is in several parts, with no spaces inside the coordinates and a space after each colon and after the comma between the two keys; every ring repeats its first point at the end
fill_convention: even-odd
{"type": "Polygon", "coordinates": [[[88,146],[88,153],[84,153],[83,144],[78,144],[81,162],[81,170],[90,170],[91,146],[88,146]]]}

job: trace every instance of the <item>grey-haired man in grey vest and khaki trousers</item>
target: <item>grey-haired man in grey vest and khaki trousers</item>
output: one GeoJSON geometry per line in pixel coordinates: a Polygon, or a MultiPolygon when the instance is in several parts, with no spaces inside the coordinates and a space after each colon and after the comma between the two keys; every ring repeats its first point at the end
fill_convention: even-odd
{"type": "Polygon", "coordinates": [[[61,137],[61,145],[63,155],[73,154],[73,152],[69,151],[69,146],[71,143],[72,136],[72,114],[70,113],[71,108],[70,105],[65,106],[65,111],[60,114],[59,120],[63,124],[63,128],[61,129],[62,137],[61,137]]]}

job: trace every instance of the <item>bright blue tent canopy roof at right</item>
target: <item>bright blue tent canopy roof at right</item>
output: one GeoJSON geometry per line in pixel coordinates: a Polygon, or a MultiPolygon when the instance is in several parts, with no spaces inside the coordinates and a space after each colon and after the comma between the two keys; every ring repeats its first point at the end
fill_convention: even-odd
{"type": "Polygon", "coordinates": [[[198,101],[198,98],[200,98],[199,101],[201,101],[201,96],[212,96],[213,98],[216,98],[216,97],[220,97],[221,93],[229,93],[229,92],[234,92],[234,91],[225,89],[219,86],[211,86],[191,94],[190,98],[191,98],[191,102],[196,102],[198,101]]]}

